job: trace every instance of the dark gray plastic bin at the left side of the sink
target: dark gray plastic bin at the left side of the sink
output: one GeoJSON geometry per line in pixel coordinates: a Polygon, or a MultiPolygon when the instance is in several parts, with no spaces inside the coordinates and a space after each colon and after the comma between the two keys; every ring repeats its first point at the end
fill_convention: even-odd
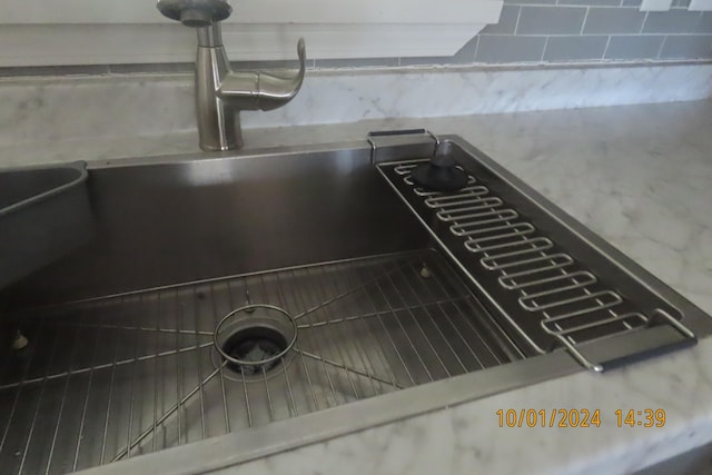
{"type": "Polygon", "coordinates": [[[0,170],[0,288],[91,237],[83,162],[0,170]]]}

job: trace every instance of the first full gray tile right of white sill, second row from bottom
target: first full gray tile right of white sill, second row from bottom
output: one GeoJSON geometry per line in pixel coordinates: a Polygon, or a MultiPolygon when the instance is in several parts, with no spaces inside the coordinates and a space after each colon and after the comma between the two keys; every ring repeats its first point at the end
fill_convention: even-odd
{"type": "Polygon", "coordinates": [[[517,34],[577,34],[586,9],[583,7],[522,7],[517,34]]]}

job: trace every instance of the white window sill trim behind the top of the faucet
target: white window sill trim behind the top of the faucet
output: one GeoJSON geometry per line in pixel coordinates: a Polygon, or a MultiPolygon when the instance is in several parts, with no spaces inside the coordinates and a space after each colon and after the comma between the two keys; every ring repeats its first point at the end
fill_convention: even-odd
{"type": "MultiPolygon", "coordinates": [[[[502,0],[240,0],[224,24],[233,60],[452,56],[502,0]]],[[[0,0],[0,66],[191,61],[195,32],[150,0],[0,0]]]]}

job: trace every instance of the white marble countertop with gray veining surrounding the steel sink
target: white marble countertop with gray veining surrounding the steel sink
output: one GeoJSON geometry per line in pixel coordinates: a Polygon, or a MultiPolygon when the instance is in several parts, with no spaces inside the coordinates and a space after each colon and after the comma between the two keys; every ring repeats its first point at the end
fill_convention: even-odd
{"type": "MultiPolygon", "coordinates": [[[[245,131],[250,148],[456,133],[712,314],[712,101],[245,131]]],[[[197,151],[195,133],[3,146],[13,165],[197,151]]],[[[8,160],[6,160],[8,162],[8,160]]],[[[234,474],[623,474],[712,441],[712,339],[684,352],[523,389],[233,467],[234,474]],[[497,409],[600,409],[590,428],[501,428],[497,409]],[[616,409],[662,408],[662,428],[616,409]]],[[[228,473],[226,471],[225,473],[228,473]]]]}

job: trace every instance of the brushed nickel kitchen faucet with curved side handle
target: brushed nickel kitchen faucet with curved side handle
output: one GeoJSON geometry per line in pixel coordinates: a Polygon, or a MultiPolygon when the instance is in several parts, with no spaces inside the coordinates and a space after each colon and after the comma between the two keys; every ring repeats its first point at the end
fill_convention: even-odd
{"type": "Polygon", "coordinates": [[[305,73],[304,39],[297,43],[299,72],[291,78],[258,71],[230,70],[220,21],[233,12],[226,0],[159,0],[158,10],[198,32],[196,113],[200,148],[206,151],[243,147],[239,112],[277,109],[295,98],[305,73]]]}

